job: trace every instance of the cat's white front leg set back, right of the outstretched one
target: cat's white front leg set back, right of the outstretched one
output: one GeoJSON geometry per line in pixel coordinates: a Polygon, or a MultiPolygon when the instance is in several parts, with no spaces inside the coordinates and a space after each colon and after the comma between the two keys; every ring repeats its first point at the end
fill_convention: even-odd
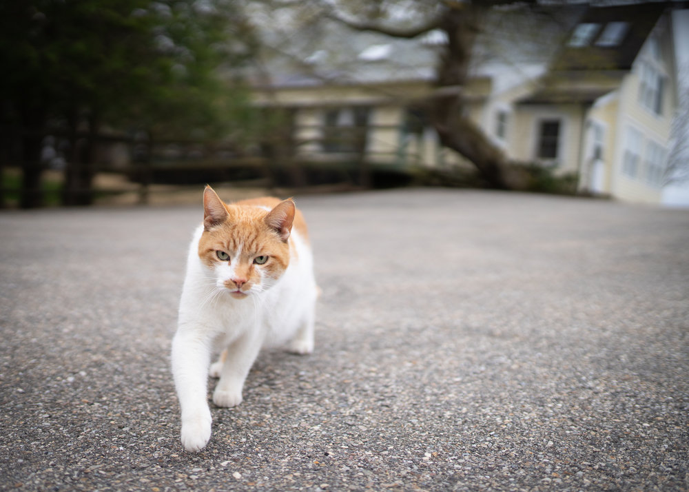
{"type": "Polygon", "coordinates": [[[235,407],[242,402],[244,381],[249,374],[249,369],[254,365],[261,345],[263,345],[263,334],[247,332],[225,349],[220,380],[213,392],[213,402],[218,407],[235,407]]]}

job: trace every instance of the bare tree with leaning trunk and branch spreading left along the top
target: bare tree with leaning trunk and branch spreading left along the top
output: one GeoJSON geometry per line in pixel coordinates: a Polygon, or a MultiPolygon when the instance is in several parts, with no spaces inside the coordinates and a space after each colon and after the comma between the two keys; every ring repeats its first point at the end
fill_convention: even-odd
{"type": "Polygon", "coordinates": [[[465,111],[464,88],[475,62],[477,39],[491,10],[529,8],[548,15],[537,6],[537,1],[304,0],[269,3],[274,9],[297,11],[292,17],[309,28],[327,19],[360,32],[375,32],[398,39],[413,39],[433,31],[444,33],[446,43],[440,47],[434,88],[425,108],[440,143],[471,161],[491,187],[520,189],[528,186],[528,167],[511,161],[469,118],[465,111]]]}

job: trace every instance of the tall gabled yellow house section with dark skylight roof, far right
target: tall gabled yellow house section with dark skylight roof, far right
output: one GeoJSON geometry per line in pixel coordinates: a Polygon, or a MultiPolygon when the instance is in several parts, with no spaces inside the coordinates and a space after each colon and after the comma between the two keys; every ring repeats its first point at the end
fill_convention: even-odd
{"type": "Polygon", "coordinates": [[[582,191],[659,203],[677,107],[672,39],[662,5],[589,9],[513,105],[511,154],[577,172],[582,191]]]}

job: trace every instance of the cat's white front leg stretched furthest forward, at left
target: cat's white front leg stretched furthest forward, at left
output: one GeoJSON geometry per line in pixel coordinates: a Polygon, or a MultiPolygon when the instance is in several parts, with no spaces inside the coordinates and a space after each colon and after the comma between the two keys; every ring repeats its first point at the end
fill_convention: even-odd
{"type": "Polygon", "coordinates": [[[211,437],[207,402],[210,340],[194,331],[178,329],[172,340],[172,374],[182,414],[181,440],[187,451],[200,451],[211,437]]]}

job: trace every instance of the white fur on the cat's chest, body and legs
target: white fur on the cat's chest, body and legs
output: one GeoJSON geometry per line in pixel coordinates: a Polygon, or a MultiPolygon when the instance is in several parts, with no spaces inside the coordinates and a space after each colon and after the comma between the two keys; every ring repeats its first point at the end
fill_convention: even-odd
{"type": "Polygon", "coordinates": [[[278,281],[264,290],[254,286],[247,298],[235,299],[223,282],[232,267],[209,269],[198,258],[203,226],[194,233],[187,258],[177,332],[172,340],[172,373],[181,408],[182,444],[203,449],[211,435],[207,375],[212,351],[227,349],[225,362],[211,370],[220,376],[213,393],[218,407],[242,401],[244,381],[265,342],[286,342],[296,353],[313,351],[317,287],[311,248],[293,229],[296,255],[278,281]]]}

